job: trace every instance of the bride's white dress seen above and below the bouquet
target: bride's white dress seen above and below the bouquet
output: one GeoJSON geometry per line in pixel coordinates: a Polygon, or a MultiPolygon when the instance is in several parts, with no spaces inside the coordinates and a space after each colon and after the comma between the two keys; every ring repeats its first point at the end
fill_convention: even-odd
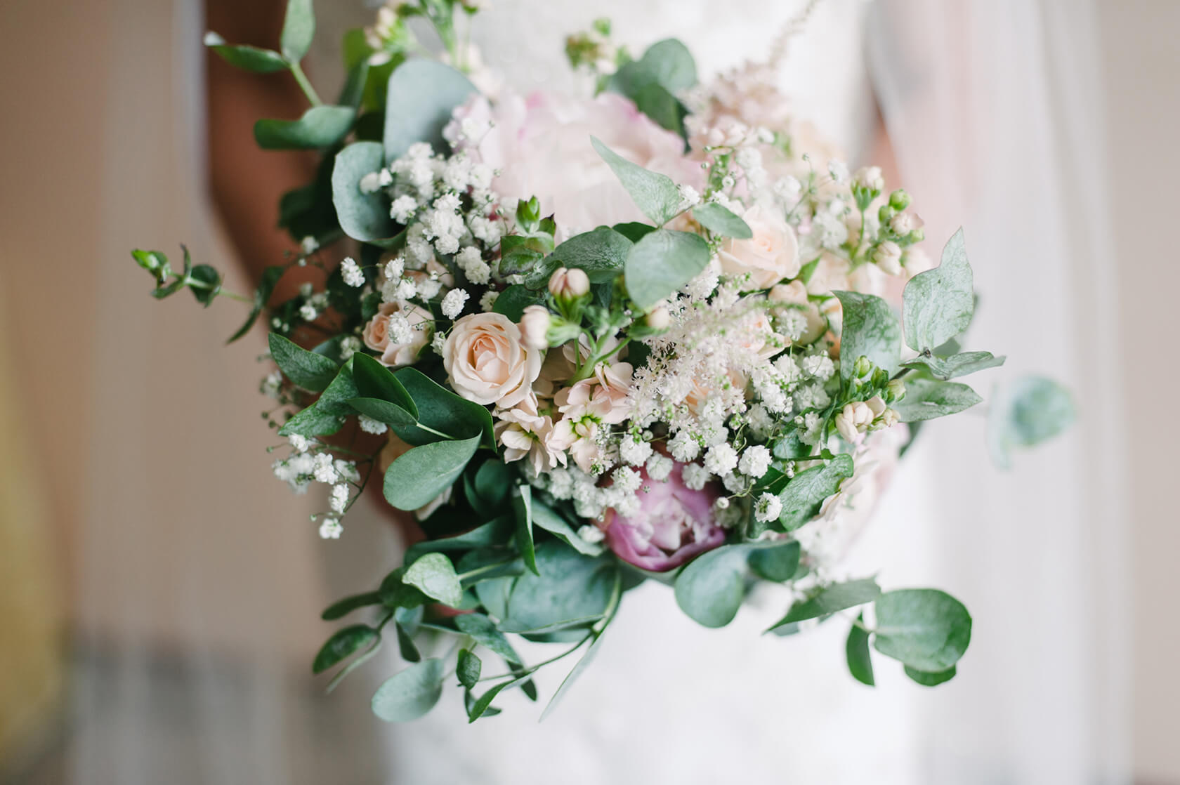
{"type": "MultiPolygon", "coordinates": [[[[564,37],[608,17],[616,40],[636,54],[661,38],[680,38],[697,58],[701,77],[708,78],[746,59],[763,58],[804,5],[496,0],[478,18],[473,40],[513,90],[573,90],[577,83],[562,54],[564,37]]],[[[782,87],[798,113],[853,159],[866,145],[873,118],[861,50],[865,9],[858,0],[820,4],[792,40],[781,70],[782,87]]],[[[354,17],[352,24],[359,21],[354,17]]],[[[905,475],[899,484],[905,484],[905,475]]],[[[902,556],[891,558],[886,547],[899,534],[893,519],[900,516],[891,512],[890,499],[897,504],[905,496],[912,502],[914,495],[893,490],[873,522],[876,534],[864,537],[858,549],[865,569],[857,573],[856,564],[848,564],[850,573],[867,575],[885,565],[886,577],[898,576],[894,582],[904,575],[902,556]]],[[[907,513],[912,518],[912,503],[907,513]]],[[[371,509],[368,515],[387,513],[371,509]]],[[[350,522],[348,537],[381,528],[355,512],[350,522]]],[[[594,666],[543,724],[537,721],[540,706],[513,692],[499,701],[503,714],[468,726],[458,692],[447,692],[427,718],[388,726],[389,780],[916,781],[914,720],[907,704],[912,691],[891,689],[900,678],[892,670],[900,668],[879,663],[886,673],[879,674],[884,686],[876,692],[856,682],[845,669],[847,624],[839,620],[794,637],[762,636],[788,604],[782,593],[768,591],[755,596],[733,624],[710,630],[680,611],[668,587],[649,582],[624,597],[594,666]]],[[[552,647],[544,646],[525,650],[531,661],[551,654],[552,647]]],[[[542,706],[572,665],[563,661],[540,674],[542,706]]],[[[391,655],[369,673],[384,679],[401,667],[391,655]]]]}

